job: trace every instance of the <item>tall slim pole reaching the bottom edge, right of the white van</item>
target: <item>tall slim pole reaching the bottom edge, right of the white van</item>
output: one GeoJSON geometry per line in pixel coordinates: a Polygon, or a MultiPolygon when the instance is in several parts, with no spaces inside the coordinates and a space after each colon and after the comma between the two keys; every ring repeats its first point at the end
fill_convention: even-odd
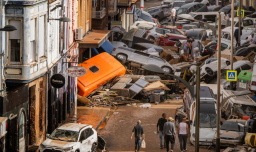
{"type": "MultiPolygon", "coordinates": [[[[219,17],[221,18],[220,12],[219,17]]],[[[221,20],[218,20],[218,27],[221,27],[221,20]]],[[[217,71],[217,137],[216,152],[220,152],[220,65],[221,65],[221,28],[218,28],[218,71],[217,71]]]]}

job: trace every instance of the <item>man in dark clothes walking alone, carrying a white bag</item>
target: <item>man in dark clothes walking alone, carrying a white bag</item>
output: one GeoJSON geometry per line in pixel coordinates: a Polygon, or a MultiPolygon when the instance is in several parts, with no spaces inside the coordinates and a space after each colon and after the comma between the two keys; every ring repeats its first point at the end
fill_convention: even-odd
{"type": "Polygon", "coordinates": [[[132,139],[133,135],[135,134],[135,152],[140,151],[141,140],[145,140],[144,130],[140,124],[141,124],[141,121],[138,120],[137,125],[134,126],[134,128],[132,130],[131,139],[132,139]]]}

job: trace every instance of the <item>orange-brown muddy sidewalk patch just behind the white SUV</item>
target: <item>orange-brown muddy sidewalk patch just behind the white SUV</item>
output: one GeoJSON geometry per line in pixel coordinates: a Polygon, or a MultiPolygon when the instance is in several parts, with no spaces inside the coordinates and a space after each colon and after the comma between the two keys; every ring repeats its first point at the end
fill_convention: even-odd
{"type": "Polygon", "coordinates": [[[77,123],[92,125],[97,130],[109,112],[110,107],[77,107],[77,123]]]}

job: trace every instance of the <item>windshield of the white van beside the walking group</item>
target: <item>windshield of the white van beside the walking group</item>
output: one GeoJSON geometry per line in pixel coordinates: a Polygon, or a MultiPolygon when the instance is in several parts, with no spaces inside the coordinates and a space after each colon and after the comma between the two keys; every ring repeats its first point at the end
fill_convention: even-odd
{"type": "MultiPolygon", "coordinates": [[[[196,119],[195,119],[196,122],[196,119]]],[[[216,128],[217,114],[200,113],[200,128],[216,128]]],[[[194,123],[195,126],[195,123],[194,123]]]]}

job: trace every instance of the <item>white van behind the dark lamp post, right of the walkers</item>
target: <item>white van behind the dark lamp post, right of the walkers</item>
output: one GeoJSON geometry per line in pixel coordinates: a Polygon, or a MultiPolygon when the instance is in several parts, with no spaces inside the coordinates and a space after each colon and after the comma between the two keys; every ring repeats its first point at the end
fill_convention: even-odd
{"type": "MultiPolygon", "coordinates": [[[[210,86],[216,90],[216,85],[210,86]]],[[[216,91],[213,91],[209,86],[200,86],[200,129],[199,129],[199,144],[212,145],[214,135],[216,133],[217,106],[216,106],[216,91]],[[215,93],[214,93],[215,92],[215,93]]],[[[194,91],[195,91],[194,87],[194,91]]],[[[196,99],[191,98],[189,91],[186,89],[184,93],[184,108],[189,118],[190,125],[190,142],[195,144],[195,113],[196,99]],[[190,106],[190,108],[188,108],[190,106]]]]}

